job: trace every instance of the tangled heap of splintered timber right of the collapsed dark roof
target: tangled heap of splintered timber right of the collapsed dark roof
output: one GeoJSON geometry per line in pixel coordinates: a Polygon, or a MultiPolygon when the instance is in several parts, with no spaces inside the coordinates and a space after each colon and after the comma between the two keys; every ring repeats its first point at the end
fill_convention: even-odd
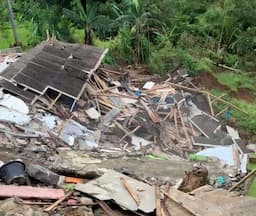
{"type": "Polygon", "coordinates": [[[185,99],[181,96],[176,101],[174,95],[177,92],[168,82],[150,80],[151,86],[147,86],[147,89],[143,89],[145,80],[142,85],[131,84],[127,71],[131,72],[101,68],[90,77],[86,85],[86,96],[91,99],[95,111],[101,120],[111,110],[120,111],[110,124],[123,133],[119,137],[121,146],[127,146],[127,143],[136,146],[132,138],[138,137],[183,156],[192,148],[190,136],[193,135],[191,125],[184,122],[181,111],[181,107],[185,109],[185,99]],[[140,137],[141,131],[147,131],[147,138],[140,137]]]}

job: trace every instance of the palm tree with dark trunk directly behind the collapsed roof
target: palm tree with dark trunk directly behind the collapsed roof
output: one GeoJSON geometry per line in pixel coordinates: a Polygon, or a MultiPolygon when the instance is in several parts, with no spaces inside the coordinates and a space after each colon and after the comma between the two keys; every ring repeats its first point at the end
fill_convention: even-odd
{"type": "Polygon", "coordinates": [[[84,43],[92,45],[93,35],[101,29],[106,29],[109,22],[108,17],[99,15],[98,1],[73,1],[73,9],[64,8],[64,16],[72,21],[72,23],[84,29],[84,43]],[[86,4],[85,4],[86,3],[86,4]]]}

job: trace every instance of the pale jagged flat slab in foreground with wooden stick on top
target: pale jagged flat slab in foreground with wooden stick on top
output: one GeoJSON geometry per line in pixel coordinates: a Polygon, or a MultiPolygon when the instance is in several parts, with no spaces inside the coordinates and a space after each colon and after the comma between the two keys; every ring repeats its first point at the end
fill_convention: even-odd
{"type": "Polygon", "coordinates": [[[141,210],[150,213],[155,209],[154,187],[114,170],[106,170],[103,176],[86,184],[77,184],[75,189],[100,200],[114,200],[122,208],[131,211],[141,210]],[[120,178],[124,178],[136,191],[140,200],[139,206],[125,189],[120,178]]]}

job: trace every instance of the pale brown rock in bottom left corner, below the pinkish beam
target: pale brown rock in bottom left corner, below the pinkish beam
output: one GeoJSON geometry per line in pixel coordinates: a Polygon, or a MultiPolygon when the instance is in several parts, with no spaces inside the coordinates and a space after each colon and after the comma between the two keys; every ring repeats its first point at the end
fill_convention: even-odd
{"type": "Polygon", "coordinates": [[[19,205],[12,198],[0,202],[0,216],[48,216],[48,214],[40,208],[19,205]]]}

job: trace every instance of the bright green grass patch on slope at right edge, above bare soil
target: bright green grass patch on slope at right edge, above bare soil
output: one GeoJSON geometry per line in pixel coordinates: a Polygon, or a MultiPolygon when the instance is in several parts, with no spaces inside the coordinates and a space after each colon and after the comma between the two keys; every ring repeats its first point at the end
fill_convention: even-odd
{"type": "Polygon", "coordinates": [[[246,73],[237,74],[232,72],[219,73],[215,75],[218,82],[227,86],[231,91],[237,91],[238,88],[255,90],[255,79],[249,77],[246,73]]]}

